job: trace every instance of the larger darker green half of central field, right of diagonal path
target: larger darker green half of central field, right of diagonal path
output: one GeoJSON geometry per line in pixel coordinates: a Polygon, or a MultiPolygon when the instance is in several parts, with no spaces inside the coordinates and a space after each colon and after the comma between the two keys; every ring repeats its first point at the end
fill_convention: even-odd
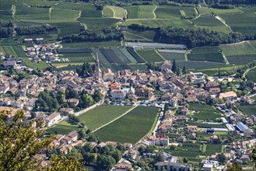
{"type": "Polygon", "coordinates": [[[135,144],[156,124],[159,108],[137,106],[134,110],[96,131],[101,141],[130,142],[135,144]]]}

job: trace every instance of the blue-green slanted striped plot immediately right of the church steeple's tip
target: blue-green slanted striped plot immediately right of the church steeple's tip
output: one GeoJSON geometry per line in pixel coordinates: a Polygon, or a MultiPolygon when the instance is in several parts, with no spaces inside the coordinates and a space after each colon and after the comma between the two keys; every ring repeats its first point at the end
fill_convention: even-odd
{"type": "Polygon", "coordinates": [[[124,56],[124,54],[119,49],[100,49],[102,54],[107,58],[109,63],[116,63],[116,64],[128,64],[131,61],[128,60],[124,56]]]}

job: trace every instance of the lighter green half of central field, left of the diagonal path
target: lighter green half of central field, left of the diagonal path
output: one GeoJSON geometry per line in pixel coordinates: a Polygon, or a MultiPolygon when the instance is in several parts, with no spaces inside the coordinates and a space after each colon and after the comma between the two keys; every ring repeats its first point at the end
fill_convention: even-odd
{"type": "Polygon", "coordinates": [[[97,127],[101,127],[103,124],[107,124],[114,120],[114,118],[121,116],[131,108],[132,106],[97,106],[93,110],[82,113],[79,119],[86,124],[86,127],[93,131],[97,127]]]}

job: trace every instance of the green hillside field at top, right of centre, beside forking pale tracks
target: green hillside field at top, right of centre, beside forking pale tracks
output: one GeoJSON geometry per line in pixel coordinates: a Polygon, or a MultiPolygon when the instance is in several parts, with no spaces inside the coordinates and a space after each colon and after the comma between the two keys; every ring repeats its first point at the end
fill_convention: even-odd
{"type": "Polygon", "coordinates": [[[156,19],[181,19],[181,12],[174,6],[157,7],[156,19]]]}

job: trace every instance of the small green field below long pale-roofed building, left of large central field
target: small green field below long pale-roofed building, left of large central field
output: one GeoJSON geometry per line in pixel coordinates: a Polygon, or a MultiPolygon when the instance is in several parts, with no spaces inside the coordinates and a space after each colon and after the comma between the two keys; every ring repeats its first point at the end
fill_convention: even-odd
{"type": "Polygon", "coordinates": [[[71,131],[79,131],[78,124],[72,124],[65,120],[47,129],[47,133],[54,132],[54,134],[68,134],[71,131]]]}

